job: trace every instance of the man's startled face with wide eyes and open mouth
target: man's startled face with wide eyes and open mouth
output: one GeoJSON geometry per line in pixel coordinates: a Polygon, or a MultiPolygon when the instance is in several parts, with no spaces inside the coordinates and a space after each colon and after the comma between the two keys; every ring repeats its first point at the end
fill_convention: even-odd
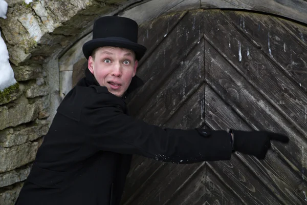
{"type": "Polygon", "coordinates": [[[99,48],[89,57],[88,68],[100,86],[121,97],[136,75],[138,60],[133,51],[118,47],[99,48]]]}

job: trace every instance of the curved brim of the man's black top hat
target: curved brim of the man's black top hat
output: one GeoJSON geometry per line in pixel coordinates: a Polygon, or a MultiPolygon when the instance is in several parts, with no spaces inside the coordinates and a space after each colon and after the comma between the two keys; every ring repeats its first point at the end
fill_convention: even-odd
{"type": "Polygon", "coordinates": [[[112,46],[133,50],[136,53],[136,59],[140,60],[146,52],[146,47],[128,40],[112,39],[112,38],[96,38],[86,42],[82,51],[86,59],[92,55],[92,52],[100,47],[112,46]]]}

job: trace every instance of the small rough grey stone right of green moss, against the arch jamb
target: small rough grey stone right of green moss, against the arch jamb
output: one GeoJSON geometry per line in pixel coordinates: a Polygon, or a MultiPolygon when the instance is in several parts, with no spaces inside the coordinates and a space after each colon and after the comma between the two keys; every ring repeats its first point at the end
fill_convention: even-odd
{"type": "Polygon", "coordinates": [[[34,98],[38,96],[46,96],[49,94],[49,87],[46,85],[43,78],[37,78],[36,83],[29,85],[26,91],[27,98],[34,98]]]}

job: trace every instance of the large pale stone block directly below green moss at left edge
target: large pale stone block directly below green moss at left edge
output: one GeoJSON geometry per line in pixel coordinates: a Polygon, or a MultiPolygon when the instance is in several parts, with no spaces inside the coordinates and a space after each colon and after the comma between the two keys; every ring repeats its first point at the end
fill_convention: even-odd
{"type": "Polygon", "coordinates": [[[38,116],[38,111],[36,104],[30,105],[28,99],[21,96],[0,107],[0,130],[33,121],[38,116]]]}

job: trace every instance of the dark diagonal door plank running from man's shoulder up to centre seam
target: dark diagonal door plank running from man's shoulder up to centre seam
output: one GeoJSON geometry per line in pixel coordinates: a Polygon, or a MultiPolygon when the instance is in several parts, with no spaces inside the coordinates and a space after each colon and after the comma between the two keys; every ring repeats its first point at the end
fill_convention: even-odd
{"type": "Polygon", "coordinates": [[[168,76],[156,90],[157,94],[147,100],[139,111],[138,118],[153,125],[163,125],[190,95],[203,83],[204,39],[196,45],[180,66],[168,76]]]}

